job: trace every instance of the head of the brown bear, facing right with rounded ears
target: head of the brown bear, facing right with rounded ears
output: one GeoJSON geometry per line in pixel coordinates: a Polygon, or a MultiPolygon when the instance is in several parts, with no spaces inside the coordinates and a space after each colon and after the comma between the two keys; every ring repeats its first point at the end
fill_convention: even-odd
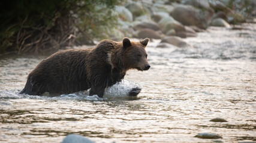
{"type": "Polygon", "coordinates": [[[145,50],[147,42],[149,42],[148,38],[140,42],[131,42],[128,38],[123,39],[124,64],[127,70],[137,69],[143,71],[150,68],[145,50]]]}

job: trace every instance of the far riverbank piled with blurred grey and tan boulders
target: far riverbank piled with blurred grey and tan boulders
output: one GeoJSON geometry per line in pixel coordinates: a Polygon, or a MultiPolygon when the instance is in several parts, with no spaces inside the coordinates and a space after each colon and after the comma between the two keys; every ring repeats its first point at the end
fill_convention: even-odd
{"type": "Polygon", "coordinates": [[[198,32],[207,30],[209,26],[242,29],[243,27],[234,27],[233,24],[244,23],[248,17],[253,22],[256,15],[256,1],[246,2],[127,1],[115,6],[119,26],[113,30],[110,37],[116,41],[121,41],[124,37],[161,39],[161,45],[158,46],[161,48],[168,44],[178,47],[188,46],[189,44],[182,38],[195,37],[198,32]]]}

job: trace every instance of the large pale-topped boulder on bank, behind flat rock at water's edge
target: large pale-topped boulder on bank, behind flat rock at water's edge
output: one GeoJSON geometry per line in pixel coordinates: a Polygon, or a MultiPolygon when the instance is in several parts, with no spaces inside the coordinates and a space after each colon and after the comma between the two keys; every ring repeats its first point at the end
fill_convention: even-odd
{"type": "Polygon", "coordinates": [[[178,21],[174,20],[173,17],[163,17],[159,22],[159,26],[163,33],[167,33],[169,30],[174,29],[175,32],[184,32],[185,26],[180,24],[178,21]]]}

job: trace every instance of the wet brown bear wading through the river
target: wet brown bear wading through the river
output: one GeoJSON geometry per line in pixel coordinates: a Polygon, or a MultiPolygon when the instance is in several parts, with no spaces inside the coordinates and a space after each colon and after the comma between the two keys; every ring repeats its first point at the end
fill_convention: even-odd
{"type": "Polygon", "coordinates": [[[20,94],[70,94],[91,88],[89,95],[102,98],[105,88],[124,79],[127,70],[150,68],[145,51],[147,42],[148,38],[140,42],[128,38],[122,42],[103,40],[94,48],[56,52],[29,73],[20,94]]]}

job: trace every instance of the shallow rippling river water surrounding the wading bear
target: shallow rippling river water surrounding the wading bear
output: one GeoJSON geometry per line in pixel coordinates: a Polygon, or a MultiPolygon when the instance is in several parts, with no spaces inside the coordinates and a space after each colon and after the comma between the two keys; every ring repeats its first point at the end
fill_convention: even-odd
{"type": "Polygon", "coordinates": [[[76,133],[95,142],[256,141],[256,25],[210,27],[185,39],[194,48],[147,46],[148,71],[128,71],[104,98],[88,91],[18,95],[45,57],[0,59],[0,142],[61,142],[76,133]],[[138,97],[127,97],[134,86],[138,97]],[[228,122],[209,122],[221,117],[228,122]],[[222,139],[200,139],[198,133],[222,139]]]}

